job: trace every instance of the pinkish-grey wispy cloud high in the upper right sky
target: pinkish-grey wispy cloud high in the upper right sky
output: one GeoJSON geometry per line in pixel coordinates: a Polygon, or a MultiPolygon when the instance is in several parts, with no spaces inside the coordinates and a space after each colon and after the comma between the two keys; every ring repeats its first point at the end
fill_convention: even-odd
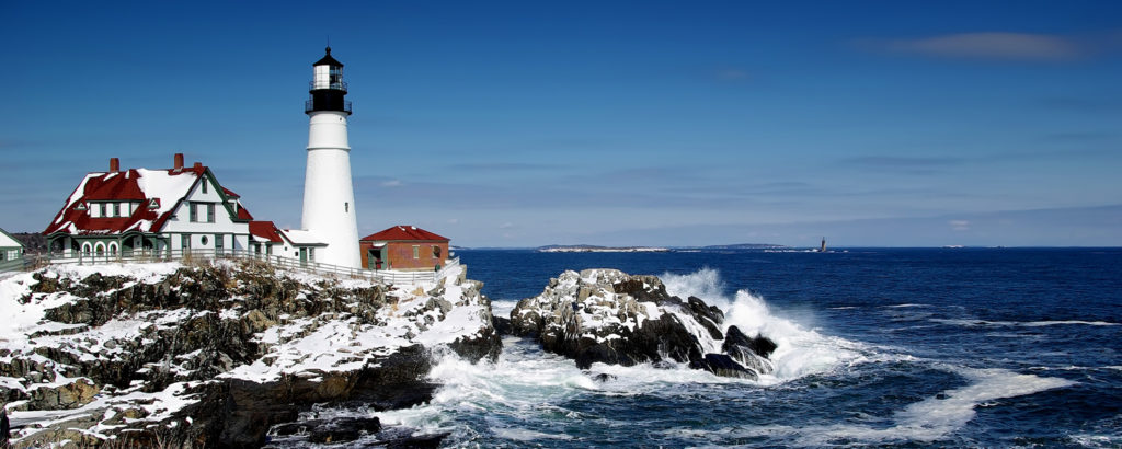
{"type": "Polygon", "coordinates": [[[916,39],[871,39],[861,44],[892,53],[1002,61],[1069,61],[1088,53],[1080,42],[1066,36],[1001,31],[960,33],[916,39]]]}

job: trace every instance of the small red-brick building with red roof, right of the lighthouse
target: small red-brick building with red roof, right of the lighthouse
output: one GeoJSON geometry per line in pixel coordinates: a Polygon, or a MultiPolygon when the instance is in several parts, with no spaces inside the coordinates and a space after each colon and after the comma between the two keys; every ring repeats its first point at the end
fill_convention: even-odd
{"type": "Polygon", "coordinates": [[[448,238],[415,226],[395,226],[359,240],[362,268],[434,271],[448,260],[448,238]]]}

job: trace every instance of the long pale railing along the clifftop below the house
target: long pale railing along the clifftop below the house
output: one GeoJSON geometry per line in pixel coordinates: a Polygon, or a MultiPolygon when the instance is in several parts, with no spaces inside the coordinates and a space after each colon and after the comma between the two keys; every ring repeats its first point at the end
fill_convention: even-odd
{"type": "Polygon", "coordinates": [[[397,269],[366,269],[352,268],[331,264],[321,264],[311,260],[301,260],[292,257],[275,255],[254,254],[247,250],[215,250],[215,249],[188,249],[172,251],[134,250],[131,254],[81,254],[76,256],[65,256],[59,254],[48,254],[38,256],[29,264],[30,266],[42,265],[98,265],[98,264],[144,264],[160,262],[186,262],[208,259],[243,259],[259,260],[273,266],[295,269],[321,275],[334,275],[340,277],[362,278],[383,284],[419,284],[422,282],[435,282],[447,277],[451,269],[460,266],[460,258],[451,258],[444,262],[440,271],[432,272],[404,272],[397,269]]]}

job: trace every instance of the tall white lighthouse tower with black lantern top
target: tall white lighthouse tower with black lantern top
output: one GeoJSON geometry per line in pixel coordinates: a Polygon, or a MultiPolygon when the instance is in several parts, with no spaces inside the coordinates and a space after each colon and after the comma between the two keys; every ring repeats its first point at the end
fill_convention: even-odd
{"type": "Polygon", "coordinates": [[[325,248],[316,250],[315,262],[360,268],[347,141],[347,117],[351,114],[351,107],[350,101],[343,99],[347,95],[343,64],[331,57],[331,47],[327,52],[312,64],[311,99],[304,104],[304,112],[311,120],[302,228],[327,244],[325,248]]]}

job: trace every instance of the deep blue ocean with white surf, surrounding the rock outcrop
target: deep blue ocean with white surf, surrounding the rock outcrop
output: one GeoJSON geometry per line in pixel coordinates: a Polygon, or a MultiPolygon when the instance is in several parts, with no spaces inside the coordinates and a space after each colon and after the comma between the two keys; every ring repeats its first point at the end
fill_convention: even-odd
{"type": "Polygon", "coordinates": [[[378,414],[445,446],[1122,447],[1122,249],[458,253],[497,311],[564,269],[618,268],[780,348],[748,382],[581,372],[507,338],[497,364],[438,364],[430,404],[378,414]]]}

